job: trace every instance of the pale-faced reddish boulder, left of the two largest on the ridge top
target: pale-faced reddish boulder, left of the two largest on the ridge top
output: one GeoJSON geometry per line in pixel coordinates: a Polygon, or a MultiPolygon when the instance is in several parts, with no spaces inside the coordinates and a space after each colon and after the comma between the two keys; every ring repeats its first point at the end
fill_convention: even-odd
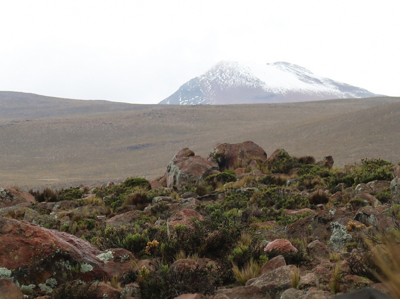
{"type": "Polygon", "coordinates": [[[218,164],[196,156],[188,148],[180,150],[166,167],[166,185],[181,185],[218,172],[218,164]]]}

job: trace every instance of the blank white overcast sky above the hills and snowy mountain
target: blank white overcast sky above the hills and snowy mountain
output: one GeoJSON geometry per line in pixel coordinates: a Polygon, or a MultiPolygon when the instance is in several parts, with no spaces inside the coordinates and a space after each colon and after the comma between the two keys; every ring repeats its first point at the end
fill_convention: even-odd
{"type": "Polygon", "coordinates": [[[158,103],[220,60],[400,96],[398,0],[2,0],[0,90],[158,103]]]}

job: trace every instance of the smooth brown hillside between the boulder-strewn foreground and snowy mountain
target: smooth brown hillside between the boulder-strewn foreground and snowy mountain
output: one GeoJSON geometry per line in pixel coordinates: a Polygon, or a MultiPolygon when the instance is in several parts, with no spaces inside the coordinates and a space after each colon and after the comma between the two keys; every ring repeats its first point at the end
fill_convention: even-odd
{"type": "Polygon", "coordinates": [[[2,186],[59,188],[129,176],[152,179],[183,147],[206,156],[216,143],[245,140],[268,155],[276,148],[316,159],[332,155],[335,165],[366,156],[400,160],[400,98],[224,106],[57,100],[67,112],[56,106],[24,109],[14,100],[18,111],[7,106],[3,118],[1,108],[2,186]]]}

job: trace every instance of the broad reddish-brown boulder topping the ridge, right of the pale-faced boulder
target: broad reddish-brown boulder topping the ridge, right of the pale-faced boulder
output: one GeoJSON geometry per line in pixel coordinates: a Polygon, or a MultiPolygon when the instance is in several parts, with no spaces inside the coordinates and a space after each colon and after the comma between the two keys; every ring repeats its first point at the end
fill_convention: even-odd
{"type": "Polygon", "coordinates": [[[225,168],[246,167],[252,160],[266,160],[265,151],[252,141],[242,143],[219,143],[215,145],[208,160],[225,168]]]}

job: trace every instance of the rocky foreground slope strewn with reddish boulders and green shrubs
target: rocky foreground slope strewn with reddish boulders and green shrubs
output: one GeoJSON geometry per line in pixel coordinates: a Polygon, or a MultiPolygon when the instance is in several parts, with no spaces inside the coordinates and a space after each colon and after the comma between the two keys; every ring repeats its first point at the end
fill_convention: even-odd
{"type": "Polygon", "coordinates": [[[0,188],[0,298],[400,298],[400,166],[333,165],[245,141],[151,182],[0,188]]]}

